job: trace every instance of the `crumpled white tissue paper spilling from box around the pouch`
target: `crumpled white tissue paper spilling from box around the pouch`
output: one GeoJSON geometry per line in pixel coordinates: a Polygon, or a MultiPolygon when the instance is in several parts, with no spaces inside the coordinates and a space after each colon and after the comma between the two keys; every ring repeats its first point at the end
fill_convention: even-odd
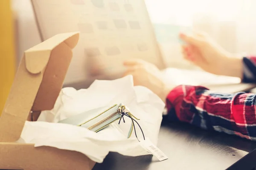
{"type": "MultiPolygon", "coordinates": [[[[157,144],[164,110],[163,101],[145,87],[133,86],[132,76],[115,80],[95,80],[87,89],[63,88],[51,111],[43,111],[37,122],[26,122],[20,141],[35,147],[50,146],[74,150],[101,163],[109,152],[125,156],[149,154],[136,139],[134,131],[127,138],[131,120],[114,122],[95,133],[84,127],[57,123],[85,111],[124,103],[136,116],[145,137],[157,144]]],[[[98,113],[96,113],[98,114],[98,113]]],[[[142,139],[140,128],[135,125],[137,136],[142,139]]]]}

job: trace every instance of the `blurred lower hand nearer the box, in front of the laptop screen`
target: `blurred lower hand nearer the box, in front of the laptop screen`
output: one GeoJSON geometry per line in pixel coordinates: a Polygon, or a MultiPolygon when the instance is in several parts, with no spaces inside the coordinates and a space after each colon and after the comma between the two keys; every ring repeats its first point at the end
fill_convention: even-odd
{"type": "Polygon", "coordinates": [[[172,88],[167,87],[162,79],[161,71],[153,64],[140,59],[130,59],[124,62],[127,70],[124,76],[132,75],[134,85],[144,86],[166,102],[166,96],[172,88]]]}

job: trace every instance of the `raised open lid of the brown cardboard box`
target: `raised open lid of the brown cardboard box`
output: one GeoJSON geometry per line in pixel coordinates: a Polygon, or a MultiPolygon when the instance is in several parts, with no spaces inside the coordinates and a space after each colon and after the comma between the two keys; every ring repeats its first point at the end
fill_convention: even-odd
{"type": "Polygon", "coordinates": [[[30,111],[51,110],[61,91],[79,33],[64,33],[25,51],[0,117],[0,142],[20,138],[30,111]]]}

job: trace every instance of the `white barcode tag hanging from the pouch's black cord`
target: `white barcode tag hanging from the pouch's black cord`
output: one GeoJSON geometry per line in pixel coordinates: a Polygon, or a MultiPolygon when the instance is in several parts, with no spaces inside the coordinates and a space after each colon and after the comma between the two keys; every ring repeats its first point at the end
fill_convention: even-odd
{"type": "Polygon", "coordinates": [[[150,141],[150,139],[146,138],[145,140],[142,140],[140,143],[146,150],[148,150],[148,152],[156,156],[159,161],[168,159],[168,157],[158,147],[156,147],[150,141]]]}

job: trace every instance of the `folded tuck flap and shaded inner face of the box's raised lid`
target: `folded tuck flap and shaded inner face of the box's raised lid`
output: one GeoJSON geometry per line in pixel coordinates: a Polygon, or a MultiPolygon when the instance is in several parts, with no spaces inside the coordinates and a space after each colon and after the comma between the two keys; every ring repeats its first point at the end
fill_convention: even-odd
{"type": "Polygon", "coordinates": [[[53,108],[73,55],[69,48],[73,49],[78,40],[79,33],[57,34],[25,51],[26,69],[32,74],[44,71],[44,77],[32,111],[51,110],[53,108]],[[64,44],[60,45],[62,42],[64,44]],[[58,49],[55,48],[57,45],[60,45],[58,49]],[[69,48],[65,48],[65,46],[69,48]]]}

